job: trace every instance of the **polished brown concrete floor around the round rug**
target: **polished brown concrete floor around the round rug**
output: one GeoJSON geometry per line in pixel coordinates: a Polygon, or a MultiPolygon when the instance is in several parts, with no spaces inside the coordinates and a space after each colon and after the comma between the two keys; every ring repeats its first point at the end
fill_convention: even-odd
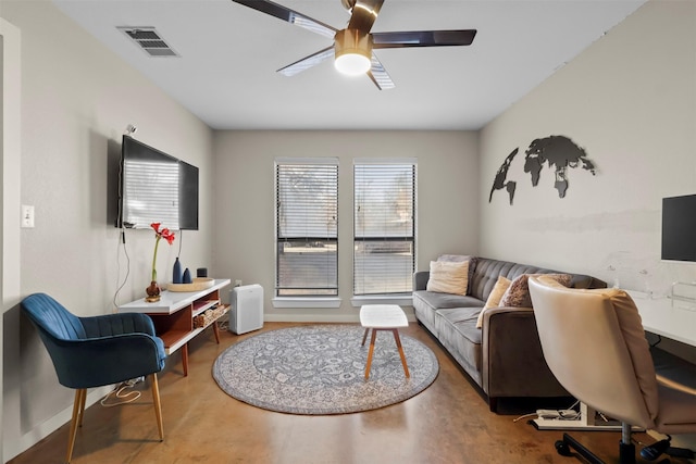
{"type": "MultiPolygon", "coordinates": [[[[266,323],[262,330],[294,324],[266,323]]],[[[158,440],[149,386],[129,404],[85,412],[73,463],[573,463],[556,453],[561,431],[540,431],[514,419],[548,403],[501,401],[500,414],[485,400],[430,334],[411,324],[402,334],[421,340],[437,355],[435,383],[400,404],[359,414],[301,416],[260,410],[224,393],[212,378],[215,358],[246,337],[221,330],[215,343],[209,328],[190,343],[189,375],[173,354],[159,375],[163,442],[158,440]]],[[[407,353],[408,359],[408,353],[407,353]]],[[[554,407],[570,404],[554,405],[554,407]]],[[[69,426],[64,425],[13,464],[61,463],[69,426]]],[[[620,434],[572,432],[607,463],[618,463],[620,434]]],[[[639,441],[652,442],[646,434],[639,441]]],[[[639,449],[639,447],[638,447],[639,449]]],[[[643,462],[638,457],[638,462],[643,462]]],[[[672,463],[685,461],[672,460],[672,463]]]]}

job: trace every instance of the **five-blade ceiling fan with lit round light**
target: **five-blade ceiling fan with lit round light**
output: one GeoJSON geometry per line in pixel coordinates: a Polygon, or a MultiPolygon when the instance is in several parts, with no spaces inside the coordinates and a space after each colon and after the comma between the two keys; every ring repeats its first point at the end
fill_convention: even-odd
{"type": "Polygon", "coordinates": [[[344,74],[368,74],[380,90],[394,88],[394,81],[375,57],[373,50],[407,47],[468,46],[474,40],[476,29],[412,30],[398,33],[370,33],[384,0],[340,0],[350,12],[344,29],[336,29],[289,8],[270,0],[233,0],[278,20],[334,39],[334,45],[277,70],[285,76],[294,76],[335,57],[336,68],[344,74]]]}

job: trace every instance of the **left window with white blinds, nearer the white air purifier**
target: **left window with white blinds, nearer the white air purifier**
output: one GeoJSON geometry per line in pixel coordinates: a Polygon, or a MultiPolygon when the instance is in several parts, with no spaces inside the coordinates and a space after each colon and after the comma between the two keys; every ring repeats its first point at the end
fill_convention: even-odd
{"type": "Polygon", "coordinates": [[[276,296],[338,294],[338,160],[276,160],[276,296]]]}

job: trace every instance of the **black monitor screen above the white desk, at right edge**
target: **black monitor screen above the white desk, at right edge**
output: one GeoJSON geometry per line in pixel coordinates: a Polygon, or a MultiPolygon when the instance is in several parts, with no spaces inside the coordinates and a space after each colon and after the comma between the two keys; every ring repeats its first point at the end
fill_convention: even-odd
{"type": "Polygon", "coordinates": [[[696,262],[696,195],[662,199],[662,260],[696,262]]]}

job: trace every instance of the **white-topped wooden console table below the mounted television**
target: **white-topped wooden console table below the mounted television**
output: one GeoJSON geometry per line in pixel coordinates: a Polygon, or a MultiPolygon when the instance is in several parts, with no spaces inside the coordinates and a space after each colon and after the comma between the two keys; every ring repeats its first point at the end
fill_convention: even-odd
{"type": "Polygon", "coordinates": [[[213,326],[215,340],[220,343],[216,319],[229,310],[220,299],[220,289],[229,285],[229,279],[215,279],[213,285],[200,291],[169,291],[160,296],[160,301],[148,303],[145,298],[119,306],[122,313],[145,313],[152,318],[157,336],[164,341],[166,354],[182,349],[184,376],[188,375],[188,342],[208,326],[213,326]],[[214,321],[196,326],[194,317],[207,310],[223,306],[224,311],[214,321]]]}

